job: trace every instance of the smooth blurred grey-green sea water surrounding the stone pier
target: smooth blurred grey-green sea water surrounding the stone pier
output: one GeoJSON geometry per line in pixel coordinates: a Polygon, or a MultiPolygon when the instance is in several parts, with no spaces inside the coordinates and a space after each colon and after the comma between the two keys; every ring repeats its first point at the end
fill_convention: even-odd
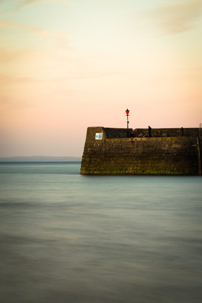
{"type": "Polygon", "coordinates": [[[202,177],[0,163],[2,303],[197,303],[202,177]]]}

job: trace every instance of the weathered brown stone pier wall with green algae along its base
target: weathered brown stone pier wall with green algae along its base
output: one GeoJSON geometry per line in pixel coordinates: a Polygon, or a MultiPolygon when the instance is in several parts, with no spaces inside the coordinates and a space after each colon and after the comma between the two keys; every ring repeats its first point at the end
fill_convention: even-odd
{"type": "Polygon", "coordinates": [[[134,138],[131,142],[108,138],[108,129],[88,127],[81,174],[201,174],[202,138],[134,138]],[[97,140],[96,133],[102,133],[102,139],[97,140]]]}

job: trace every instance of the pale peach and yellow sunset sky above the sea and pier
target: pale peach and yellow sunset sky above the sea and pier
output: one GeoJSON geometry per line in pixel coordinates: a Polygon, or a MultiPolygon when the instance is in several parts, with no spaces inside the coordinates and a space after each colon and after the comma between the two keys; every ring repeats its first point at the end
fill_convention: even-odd
{"type": "Polygon", "coordinates": [[[81,157],[88,126],[199,127],[202,0],[0,0],[0,157],[81,157]]]}

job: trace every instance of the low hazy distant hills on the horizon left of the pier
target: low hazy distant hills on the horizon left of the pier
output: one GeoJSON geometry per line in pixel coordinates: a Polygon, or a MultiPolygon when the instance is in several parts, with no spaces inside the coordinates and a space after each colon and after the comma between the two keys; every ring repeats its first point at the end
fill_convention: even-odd
{"type": "Polygon", "coordinates": [[[81,157],[28,156],[0,158],[0,162],[81,162],[81,159],[81,157]]]}

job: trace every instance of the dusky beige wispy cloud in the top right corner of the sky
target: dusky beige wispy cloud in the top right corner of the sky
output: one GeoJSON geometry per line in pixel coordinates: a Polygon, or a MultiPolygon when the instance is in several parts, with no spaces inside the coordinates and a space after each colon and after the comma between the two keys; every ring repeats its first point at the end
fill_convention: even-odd
{"type": "Polygon", "coordinates": [[[174,0],[147,13],[167,35],[189,31],[201,15],[201,0],[174,0]]]}

